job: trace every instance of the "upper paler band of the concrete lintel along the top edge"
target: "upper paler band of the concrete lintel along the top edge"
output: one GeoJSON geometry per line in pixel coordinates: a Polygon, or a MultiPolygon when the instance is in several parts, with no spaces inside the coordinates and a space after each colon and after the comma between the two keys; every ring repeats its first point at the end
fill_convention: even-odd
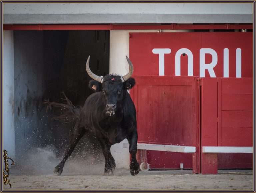
{"type": "MultiPolygon", "coordinates": [[[[252,14],[252,3],[3,3],[4,14],[252,14]]],[[[135,22],[135,21],[134,21],[135,22]]]]}

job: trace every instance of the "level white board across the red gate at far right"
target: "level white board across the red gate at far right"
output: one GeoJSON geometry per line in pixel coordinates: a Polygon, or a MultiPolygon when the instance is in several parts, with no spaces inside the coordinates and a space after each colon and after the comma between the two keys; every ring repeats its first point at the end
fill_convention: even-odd
{"type": "Polygon", "coordinates": [[[203,153],[252,153],[252,147],[203,147],[203,153]]]}

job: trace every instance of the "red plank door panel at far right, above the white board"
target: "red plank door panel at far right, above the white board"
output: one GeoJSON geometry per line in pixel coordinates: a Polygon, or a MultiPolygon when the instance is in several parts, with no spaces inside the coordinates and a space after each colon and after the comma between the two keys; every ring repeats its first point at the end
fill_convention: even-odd
{"type": "Polygon", "coordinates": [[[218,78],[219,146],[252,146],[252,78],[218,78]]]}

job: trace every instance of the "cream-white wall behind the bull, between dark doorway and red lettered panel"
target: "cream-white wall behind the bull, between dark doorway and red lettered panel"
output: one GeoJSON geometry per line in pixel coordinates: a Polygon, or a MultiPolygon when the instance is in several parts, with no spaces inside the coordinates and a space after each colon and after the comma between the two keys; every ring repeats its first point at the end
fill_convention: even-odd
{"type": "MultiPolygon", "coordinates": [[[[156,32],[156,30],[111,30],[109,73],[125,75],[129,72],[129,66],[125,56],[129,57],[129,33],[130,32],[156,32]]],[[[189,32],[188,30],[162,30],[163,32],[189,32]]],[[[135,69],[136,70],[136,69],[135,69]]],[[[116,167],[129,167],[129,149],[123,148],[125,139],[119,144],[112,145],[111,154],[116,161],[116,167]]]]}

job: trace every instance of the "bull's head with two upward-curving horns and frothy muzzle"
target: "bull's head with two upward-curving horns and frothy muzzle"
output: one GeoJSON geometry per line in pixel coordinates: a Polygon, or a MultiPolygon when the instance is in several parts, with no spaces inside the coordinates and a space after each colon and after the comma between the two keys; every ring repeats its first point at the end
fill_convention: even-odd
{"type": "Polygon", "coordinates": [[[135,85],[134,78],[130,78],[133,73],[132,62],[127,56],[126,59],[129,64],[129,72],[124,76],[110,74],[104,77],[97,76],[89,68],[90,56],[86,62],[86,71],[93,79],[89,82],[89,87],[96,92],[101,92],[104,96],[105,110],[109,116],[115,115],[127,94],[126,90],[131,89],[135,85]]]}

